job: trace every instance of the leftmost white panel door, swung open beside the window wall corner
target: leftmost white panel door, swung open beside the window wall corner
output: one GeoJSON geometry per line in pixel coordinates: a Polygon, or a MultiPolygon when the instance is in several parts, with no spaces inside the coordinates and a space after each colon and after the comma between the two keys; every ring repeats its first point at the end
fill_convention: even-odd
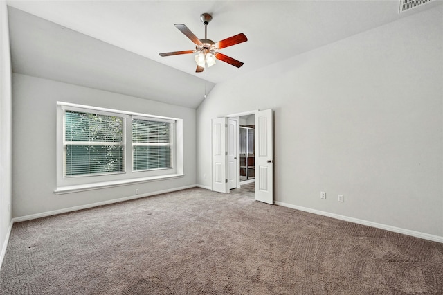
{"type": "Polygon", "coordinates": [[[226,118],[213,119],[213,186],[212,190],[229,193],[226,178],[226,118]]]}

